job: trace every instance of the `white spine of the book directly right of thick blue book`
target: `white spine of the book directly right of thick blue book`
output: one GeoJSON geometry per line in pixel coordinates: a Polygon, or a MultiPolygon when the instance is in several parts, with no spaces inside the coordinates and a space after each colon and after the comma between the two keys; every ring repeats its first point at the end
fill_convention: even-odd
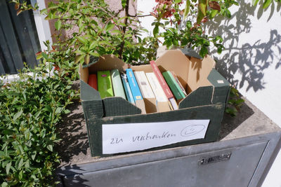
{"type": "Polygon", "coordinates": [[[145,71],[133,71],[136,76],[136,81],[138,82],[138,87],[141,90],[143,98],[155,98],[154,93],[148,83],[148,78],[145,76],[145,71]]]}

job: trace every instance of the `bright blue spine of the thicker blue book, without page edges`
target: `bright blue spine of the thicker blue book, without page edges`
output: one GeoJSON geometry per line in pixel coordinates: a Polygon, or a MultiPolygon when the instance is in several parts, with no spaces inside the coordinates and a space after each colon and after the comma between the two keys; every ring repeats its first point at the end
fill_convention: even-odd
{"type": "Polygon", "coordinates": [[[131,88],[131,92],[133,94],[133,99],[135,101],[142,100],[143,96],[141,95],[141,90],[138,87],[136,77],[133,75],[133,70],[132,69],[126,69],[126,75],[127,75],[127,78],[128,78],[130,88],[131,88]]]}

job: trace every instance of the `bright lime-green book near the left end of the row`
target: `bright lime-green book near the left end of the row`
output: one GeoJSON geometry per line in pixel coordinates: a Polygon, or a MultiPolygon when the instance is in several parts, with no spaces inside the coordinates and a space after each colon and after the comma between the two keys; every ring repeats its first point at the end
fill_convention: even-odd
{"type": "Polygon", "coordinates": [[[100,92],[102,99],[114,96],[110,71],[98,71],[98,92],[100,92]]]}

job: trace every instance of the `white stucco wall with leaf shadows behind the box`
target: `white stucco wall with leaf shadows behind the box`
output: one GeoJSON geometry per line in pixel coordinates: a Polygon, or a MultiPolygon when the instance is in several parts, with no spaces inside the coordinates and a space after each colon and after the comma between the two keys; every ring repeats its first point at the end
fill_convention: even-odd
{"type": "MultiPolygon", "coordinates": [[[[216,19],[209,34],[223,36],[226,50],[213,55],[218,71],[281,127],[281,4],[266,10],[251,6],[251,0],[238,1],[230,20],[216,19]]],[[[149,13],[155,1],[138,0],[138,11],[149,13]]],[[[150,29],[152,18],[143,18],[150,29]]],[[[281,153],[277,155],[263,187],[281,186],[281,153]]]]}

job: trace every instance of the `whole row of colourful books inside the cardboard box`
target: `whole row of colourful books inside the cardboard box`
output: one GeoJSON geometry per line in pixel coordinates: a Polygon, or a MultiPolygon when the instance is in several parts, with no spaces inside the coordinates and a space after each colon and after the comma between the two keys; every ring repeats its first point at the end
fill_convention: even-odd
{"type": "Polygon", "coordinates": [[[98,71],[90,74],[88,83],[100,92],[100,97],[122,97],[141,109],[142,113],[163,112],[178,109],[178,102],[187,96],[173,71],[161,73],[154,61],[153,72],[126,69],[98,71]]]}

